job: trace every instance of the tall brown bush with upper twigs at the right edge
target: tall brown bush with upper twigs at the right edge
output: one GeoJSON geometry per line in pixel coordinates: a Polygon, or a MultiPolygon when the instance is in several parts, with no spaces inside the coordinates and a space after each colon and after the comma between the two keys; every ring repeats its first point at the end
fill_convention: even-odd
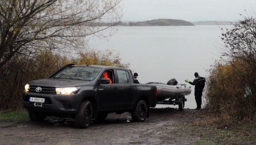
{"type": "Polygon", "coordinates": [[[206,87],[206,107],[226,123],[256,122],[256,23],[245,17],[222,34],[225,59],[216,61],[206,87]]]}

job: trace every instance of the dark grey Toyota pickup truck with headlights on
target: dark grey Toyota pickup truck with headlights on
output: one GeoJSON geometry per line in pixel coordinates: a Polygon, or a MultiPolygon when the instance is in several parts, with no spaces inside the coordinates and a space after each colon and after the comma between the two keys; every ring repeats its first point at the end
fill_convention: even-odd
{"type": "Polygon", "coordinates": [[[77,127],[87,128],[92,118],[105,119],[111,112],[130,112],[134,121],[143,122],[156,105],[157,89],[134,84],[125,68],[69,64],[47,79],[28,82],[22,96],[31,121],[73,117],[77,127]]]}

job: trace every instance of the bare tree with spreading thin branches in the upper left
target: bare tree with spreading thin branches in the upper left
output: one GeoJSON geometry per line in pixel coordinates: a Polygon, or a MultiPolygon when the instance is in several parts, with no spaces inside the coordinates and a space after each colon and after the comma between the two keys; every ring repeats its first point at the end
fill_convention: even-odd
{"type": "Polygon", "coordinates": [[[121,16],[120,0],[0,0],[0,70],[17,55],[84,48],[84,37],[110,35],[102,31],[121,16]]]}

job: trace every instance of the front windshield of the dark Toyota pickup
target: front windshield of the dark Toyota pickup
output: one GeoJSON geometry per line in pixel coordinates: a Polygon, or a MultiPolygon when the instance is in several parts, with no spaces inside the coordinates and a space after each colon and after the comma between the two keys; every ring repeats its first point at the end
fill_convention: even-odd
{"type": "Polygon", "coordinates": [[[92,81],[99,71],[100,68],[71,66],[59,72],[54,78],[92,81]]]}

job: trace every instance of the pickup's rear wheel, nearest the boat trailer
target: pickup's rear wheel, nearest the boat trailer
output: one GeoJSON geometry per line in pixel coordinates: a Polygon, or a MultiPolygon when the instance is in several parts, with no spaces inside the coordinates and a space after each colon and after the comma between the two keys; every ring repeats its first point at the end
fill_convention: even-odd
{"type": "Polygon", "coordinates": [[[133,121],[144,122],[147,118],[148,111],[147,103],[143,100],[140,100],[137,103],[136,108],[131,113],[133,121]]]}

